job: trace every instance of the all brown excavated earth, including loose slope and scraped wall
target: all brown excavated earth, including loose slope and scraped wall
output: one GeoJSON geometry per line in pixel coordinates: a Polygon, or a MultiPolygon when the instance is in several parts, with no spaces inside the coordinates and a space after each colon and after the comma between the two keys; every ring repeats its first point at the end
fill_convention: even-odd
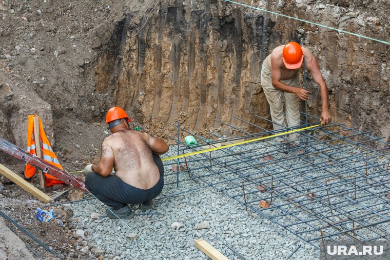
{"type": "MultiPolygon", "coordinates": [[[[39,115],[67,171],[97,162],[108,134],[105,113],[114,105],[129,113],[132,127],[141,126],[170,144],[177,121],[206,138],[212,137],[209,131],[236,134],[221,122],[258,131],[236,117],[269,128],[255,116],[269,118],[261,64],[288,41],[317,57],[335,122],[373,130],[385,141],[390,137],[389,45],[224,1],[1,3],[0,136],[26,148],[27,116],[39,115]]],[[[386,0],[245,3],[390,38],[386,0]]],[[[309,113],[320,115],[319,89],[310,75],[308,89],[309,113]]],[[[23,164],[2,152],[0,163],[23,174],[23,164]]],[[[5,190],[1,210],[46,242],[57,239],[63,247],[75,247],[71,227],[36,222],[38,203],[14,185],[5,190]]]]}

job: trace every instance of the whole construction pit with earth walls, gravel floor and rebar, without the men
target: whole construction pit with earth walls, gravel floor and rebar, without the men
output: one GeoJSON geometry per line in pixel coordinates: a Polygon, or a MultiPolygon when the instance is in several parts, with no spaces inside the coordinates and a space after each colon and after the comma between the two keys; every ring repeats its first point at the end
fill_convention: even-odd
{"type": "Polygon", "coordinates": [[[320,259],[390,240],[388,2],[19,2],[0,0],[0,258],[208,259],[204,239],[228,259],[320,259]],[[289,41],[317,58],[329,125],[307,73],[300,126],[272,130],[261,65],[289,41]],[[107,218],[79,172],[112,106],[170,145],[163,192],[131,220],[107,218]],[[26,153],[30,114],[63,171],[26,153]],[[26,184],[26,162],[69,185],[26,184]]]}

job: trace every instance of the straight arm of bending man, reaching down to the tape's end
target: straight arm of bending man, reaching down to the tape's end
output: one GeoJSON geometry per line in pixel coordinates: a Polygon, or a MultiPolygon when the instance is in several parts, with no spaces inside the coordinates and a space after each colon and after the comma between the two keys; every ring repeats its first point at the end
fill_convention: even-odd
{"type": "Polygon", "coordinates": [[[318,84],[318,86],[320,86],[322,105],[321,122],[322,124],[327,125],[332,122],[332,116],[329,113],[328,87],[326,86],[326,82],[322,77],[320,68],[317,65],[316,58],[311,53],[305,57],[305,66],[310,71],[314,81],[318,84]]]}

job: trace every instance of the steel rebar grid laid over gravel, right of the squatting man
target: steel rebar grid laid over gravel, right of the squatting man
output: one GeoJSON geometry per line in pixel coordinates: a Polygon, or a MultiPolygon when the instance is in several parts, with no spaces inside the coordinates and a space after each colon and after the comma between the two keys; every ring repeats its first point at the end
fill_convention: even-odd
{"type": "MultiPolygon", "coordinates": [[[[219,140],[209,141],[178,124],[178,135],[185,132],[202,143],[190,147],[178,142],[177,137],[169,137],[178,142],[178,152],[189,153],[204,146],[291,130],[267,131],[238,117],[236,120],[262,132],[250,134],[219,122],[243,135],[223,138],[211,133],[219,140]]],[[[324,238],[390,241],[390,145],[370,133],[332,124],[300,132],[299,143],[282,136],[284,143],[266,139],[184,157],[180,162],[165,164],[185,162],[185,174],[181,174],[179,165],[179,174],[166,174],[166,185],[183,183],[183,190],[166,197],[212,187],[316,248],[324,238]],[[381,148],[369,148],[378,144],[381,148]],[[300,150],[304,153],[297,153],[300,150]],[[191,188],[184,188],[188,183],[191,188]],[[266,201],[269,207],[261,208],[260,201],[266,201]]]]}

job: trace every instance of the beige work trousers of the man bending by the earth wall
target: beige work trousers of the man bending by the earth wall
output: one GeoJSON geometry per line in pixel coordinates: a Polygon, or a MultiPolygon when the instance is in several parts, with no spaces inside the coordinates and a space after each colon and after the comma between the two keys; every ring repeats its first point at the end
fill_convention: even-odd
{"type": "MultiPolygon", "coordinates": [[[[284,96],[284,102],[286,105],[287,126],[288,127],[299,126],[301,123],[300,114],[299,114],[299,97],[293,93],[277,90],[276,88],[274,88],[274,86],[272,86],[271,70],[267,62],[269,58],[270,57],[268,56],[264,60],[262,65],[261,86],[263,87],[265,97],[267,98],[267,101],[269,103],[272,122],[274,122],[273,124],[274,130],[283,129],[282,126],[286,127],[286,123],[284,121],[282,96],[284,96]]],[[[299,87],[300,86],[299,73],[297,73],[297,75],[295,75],[291,79],[286,79],[280,82],[287,84],[289,86],[299,87]]],[[[298,134],[296,133],[290,134],[289,138],[291,141],[297,141],[298,134]]],[[[276,137],[276,140],[281,142],[283,139],[280,137],[276,137]]]]}

